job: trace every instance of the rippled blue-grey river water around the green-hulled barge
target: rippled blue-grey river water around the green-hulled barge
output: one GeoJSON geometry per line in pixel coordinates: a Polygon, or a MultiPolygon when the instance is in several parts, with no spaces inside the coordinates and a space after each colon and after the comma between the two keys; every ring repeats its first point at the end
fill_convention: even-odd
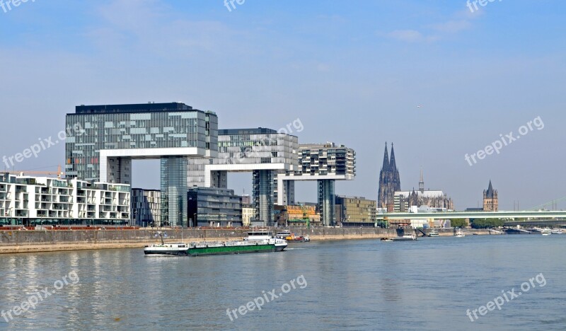
{"type": "Polygon", "coordinates": [[[520,235],[0,255],[0,330],[566,330],[565,247],[520,235]]]}

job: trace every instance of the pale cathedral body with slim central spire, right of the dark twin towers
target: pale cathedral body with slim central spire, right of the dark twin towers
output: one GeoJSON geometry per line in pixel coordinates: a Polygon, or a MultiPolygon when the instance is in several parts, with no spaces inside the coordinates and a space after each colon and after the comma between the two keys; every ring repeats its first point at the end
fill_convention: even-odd
{"type": "Polygon", "coordinates": [[[408,212],[412,207],[429,207],[439,211],[454,210],[454,202],[441,190],[424,190],[424,178],[420,172],[419,190],[397,191],[393,199],[393,211],[408,212]]]}

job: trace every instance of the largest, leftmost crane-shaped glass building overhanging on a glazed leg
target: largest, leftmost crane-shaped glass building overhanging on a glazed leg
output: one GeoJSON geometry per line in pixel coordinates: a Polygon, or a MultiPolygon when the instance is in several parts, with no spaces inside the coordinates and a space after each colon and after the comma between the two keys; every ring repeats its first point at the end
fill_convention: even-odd
{"type": "Polygon", "coordinates": [[[187,158],[216,156],[214,112],[184,103],[80,105],[66,122],[67,177],[131,184],[132,160],[160,159],[161,221],[187,226],[187,158]]]}

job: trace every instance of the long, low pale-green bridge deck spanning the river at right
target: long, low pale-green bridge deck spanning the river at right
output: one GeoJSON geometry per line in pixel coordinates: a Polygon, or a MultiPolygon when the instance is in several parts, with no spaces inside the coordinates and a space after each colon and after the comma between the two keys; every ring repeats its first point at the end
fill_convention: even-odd
{"type": "MultiPolygon", "coordinates": [[[[404,219],[566,219],[566,211],[446,211],[438,213],[378,214],[377,221],[404,219]]],[[[555,221],[555,220],[553,220],[555,221]]],[[[519,221],[516,221],[518,223],[519,221]]],[[[522,224],[522,223],[521,223],[522,224]]],[[[507,225],[507,223],[506,223],[507,225]]],[[[513,224],[509,224],[513,225],[513,224]]]]}

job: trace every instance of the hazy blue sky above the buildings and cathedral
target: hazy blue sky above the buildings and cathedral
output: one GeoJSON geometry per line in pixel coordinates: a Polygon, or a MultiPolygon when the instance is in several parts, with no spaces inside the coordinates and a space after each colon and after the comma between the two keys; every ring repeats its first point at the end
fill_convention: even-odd
{"type": "MultiPolygon", "coordinates": [[[[356,180],[337,194],[377,199],[387,141],[403,190],[422,168],[456,209],[490,180],[500,209],[566,196],[566,2],[240,2],[0,6],[0,157],[57,137],[76,105],[178,101],[221,129],[300,120],[299,143],[354,149],[356,180]]],[[[57,170],[64,143],[47,145],[8,170],[57,170]]],[[[158,163],[135,162],[133,180],[158,188],[158,163]]],[[[229,188],[249,193],[251,175],[229,188]]],[[[296,196],[316,202],[316,184],[296,196]]]]}

